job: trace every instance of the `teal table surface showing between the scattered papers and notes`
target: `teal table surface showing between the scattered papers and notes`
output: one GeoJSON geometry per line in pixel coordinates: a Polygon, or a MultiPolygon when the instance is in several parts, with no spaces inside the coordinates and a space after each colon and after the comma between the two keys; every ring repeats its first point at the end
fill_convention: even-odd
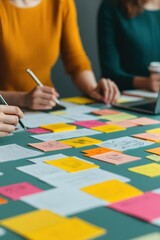
{"type": "MultiPolygon", "coordinates": [[[[98,105],[98,106],[102,107],[103,105],[102,106],[98,105]]],[[[128,112],[131,114],[135,114],[137,116],[146,116],[146,117],[160,120],[160,115],[150,116],[150,115],[144,115],[144,114],[141,115],[141,114],[138,114],[135,112],[129,112],[129,111],[123,111],[123,112],[128,112]]],[[[156,127],[159,127],[159,124],[131,127],[125,131],[106,133],[106,134],[100,133],[100,134],[92,135],[90,137],[105,141],[108,139],[114,139],[114,138],[119,138],[123,136],[131,136],[132,134],[136,134],[136,133],[143,133],[147,129],[153,129],[156,127]]],[[[31,138],[30,135],[32,134],[22,131],[22,132],[15,133],[13,136],[0,138],[0,146],[15,143],[20,146],[31,149],[31,147],[27,146],[28,143],[35,143],[40,141],[34,138],[31,138]]],[[[83,156],[83,153],[81,152],[81,150],[90,149],[93,147],[95,146],[84,147],[84,148],[71,148],[71,149],[66,149],[61,151],[60,150],[52,151],[52,152],[45,153],[45,155],[47,156],[51,154],[63,153],[66,155],[81,157],[83,159],[94,162],[95,164],[98,164],[101,169],[111,171],[111,172],[130,178],[131,179],[130,184],[139,188],[144,192],[160,188],[160,177],[149,178],[149,177],[128,171],[128,168],[130,167],[152,163],[152,161],[146,158],[146,156],[149,155],[149,153],[145,152],[145,150],[149,148],[160,147],[160,143],[156,143],[144,148],[125,151],[126,154],[138,156],[138,157],[141,157],[142,159],[140,161],[130,162],[130,163],[117,165],[117,166],[109,163],[101,162],[98,160],[93,160],[93,159],[87,158],[86,156],[83,156]]],[[[0,186],[19,183],[19,182],[29,182],[39,188],[42,188],[43,190],[53,188],[52,186],[28,174],[18,171],[16,169],[16,167],[30,165],[30,164],[32,163],[29,162],[27,159],[20,159],[20,160],[10,161],[10,162],[1,162],[0,172],[3,172],[4,175],[0,177],[0,186]]],[[[32,211],[34,209],[35,208],[25,204],[20,200],[13,201],[8,198],[7,204],[0,205],[0,219],[2,220],[11,216],[23,214],[28,211],[32,211]]],[[[107,207],[99,207],[89,211],[80,212],[74,216],[78,216],[92,224],[95,224],[97,226],[107,229],[107,234],[99,238],[96,238],[98,240],[128,240],[140,235],[159,231],[159,227],[157,226],[146,223],[134,217],[116,212],[107,207]]],[[[0,239],[1,240],[22,240],[24,238],[6,229],[6,234],[0,237],[0,239]]],[[[47,239],[44,239],[44,240],[47,240],[47,239]]],[[[53,240],[54,240],[54,236],[53,236],[53,240]]]]}

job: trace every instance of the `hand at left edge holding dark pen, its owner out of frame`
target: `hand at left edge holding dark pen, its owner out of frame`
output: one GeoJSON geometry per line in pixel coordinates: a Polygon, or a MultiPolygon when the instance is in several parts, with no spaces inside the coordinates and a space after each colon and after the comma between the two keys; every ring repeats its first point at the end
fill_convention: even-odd
{"type": "Polygon", "coordinates": [[[7,136],[13,132],[19,118],[22,117],[23,113],[18,107],[0,105],[0,137],[7,136]]]}

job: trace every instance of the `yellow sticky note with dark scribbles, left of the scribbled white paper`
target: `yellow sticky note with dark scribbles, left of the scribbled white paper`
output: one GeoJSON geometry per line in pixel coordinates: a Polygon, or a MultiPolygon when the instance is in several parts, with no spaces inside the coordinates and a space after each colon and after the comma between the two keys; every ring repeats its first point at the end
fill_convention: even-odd
{"type": "Polygon", "coordinates": [[[90,145],[99,144],[102,141],[94,138],[89,138],[89,137],[79,137],[79,138],[70,138],[68,140],[63,140],[60,142],[70,145],[72,147],[78,148],[78,147],[86,147],[90,145]]]}

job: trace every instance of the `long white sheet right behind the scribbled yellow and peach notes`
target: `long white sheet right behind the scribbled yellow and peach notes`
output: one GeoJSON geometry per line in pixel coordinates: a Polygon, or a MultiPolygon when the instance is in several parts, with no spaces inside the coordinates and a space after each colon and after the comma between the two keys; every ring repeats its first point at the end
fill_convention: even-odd
{"type": "Polygon", "coordinates": [[[41,141],[48,141],[48,140],[61,140],[61,139],[68,139],[68,138],[74,138],[74,137],[82,137],[82,136],[91,136],[100,134],[99,131],[94,131],[91,129],[81,128],[63,132],[63,133],[46,133],[46,134],[40,134],[40,135],[32,135],[31,137],[36,138],[41,141]]]}

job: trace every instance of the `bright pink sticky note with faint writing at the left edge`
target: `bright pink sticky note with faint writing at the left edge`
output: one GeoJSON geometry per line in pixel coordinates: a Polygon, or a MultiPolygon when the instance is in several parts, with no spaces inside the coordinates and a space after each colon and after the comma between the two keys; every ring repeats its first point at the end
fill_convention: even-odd
{"type": "Polygon", "coordinates": [[[43,190],[33,186],[27,182],[21,182],[16,184],[11,184],[8,186],[0,187],[0,194],[9,197],[13,200],[17,200],[23,196],[42,192],[43,190]]]}

